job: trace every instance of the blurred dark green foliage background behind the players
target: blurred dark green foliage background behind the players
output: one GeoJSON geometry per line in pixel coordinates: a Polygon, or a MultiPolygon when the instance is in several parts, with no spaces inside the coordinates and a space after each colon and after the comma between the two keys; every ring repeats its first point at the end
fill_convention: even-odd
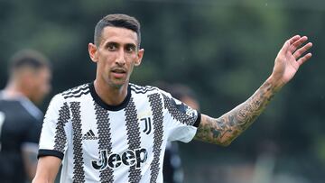
{"type": "Polygon", "coordinates": [[[52,61],[51,96],[91,82],[88,42],[98,20],[123,13],[142,23],[144,61],[132,82],[157,80],[194,89],[201,111],[218,117],[246,100],[272,71],[283,41],[313,42],[313,58],[229,147],[181,145],[185,182],[317,183],[325,177],[324,33],[320,0],[0,0],[0,87],[16,50],[52,61]],[[261,178],[262,179],[259,179],[261,178]]]}

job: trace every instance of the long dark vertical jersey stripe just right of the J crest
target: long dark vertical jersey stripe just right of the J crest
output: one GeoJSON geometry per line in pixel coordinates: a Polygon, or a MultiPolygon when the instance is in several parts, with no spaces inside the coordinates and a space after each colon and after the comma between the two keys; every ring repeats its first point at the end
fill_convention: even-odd
{"type": "Polygon", "coordinates": [[[159,94],[148,96],[153,111],[153,161],[150,166],[150,182],[155,183],[160,171],[160,155],[163,143],[163,103],[159,94]]]}

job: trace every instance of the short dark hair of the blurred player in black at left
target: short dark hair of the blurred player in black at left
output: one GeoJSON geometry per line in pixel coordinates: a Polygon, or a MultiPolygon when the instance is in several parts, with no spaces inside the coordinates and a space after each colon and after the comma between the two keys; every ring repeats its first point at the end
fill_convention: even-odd
{"type": "Polygon", "coordinates": [[[23,68],[34,70],[50,68],[50,62],[37,50],[20,50],[10,59],[9,72],[13,74],[15,71],[23,68]]]}

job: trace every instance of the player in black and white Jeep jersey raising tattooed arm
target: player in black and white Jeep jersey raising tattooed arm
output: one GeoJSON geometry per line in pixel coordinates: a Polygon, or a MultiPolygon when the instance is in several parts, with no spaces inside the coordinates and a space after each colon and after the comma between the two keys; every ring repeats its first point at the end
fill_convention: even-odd
{"type": "Polygon", "coordinates": [[[285,41],[274,70],[241,105],[212,118],[157,87],[129,83],[141,64],[140,24],[109,14],[88,44],[97,63],[94,82],[54,96],[45,114],[34,183],[53,182],[61,160],[61,182],[163,182],[167,142],[197,139],[228,145],[255,121],[311,53],[305,36],[285,41]],[[303,44],[303,45],[302,45],[303,44]]]}

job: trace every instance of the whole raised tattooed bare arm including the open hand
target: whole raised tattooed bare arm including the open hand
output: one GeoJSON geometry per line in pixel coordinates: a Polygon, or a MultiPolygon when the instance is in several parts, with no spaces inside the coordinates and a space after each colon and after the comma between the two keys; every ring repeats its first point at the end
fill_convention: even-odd
{"type": "Polygon", "coordinates": [[[274,94],[293,78],[302,63],[311,58],[311,53],[301,57],[312,46],[309,42],[299,48],[305,41],[306,36],[296,35],[284,43],[275,59],[272,75],[246,102],[217,119],[202,114],[195,139],[227,146],[243,133],[265,110],[274,94]]]}

